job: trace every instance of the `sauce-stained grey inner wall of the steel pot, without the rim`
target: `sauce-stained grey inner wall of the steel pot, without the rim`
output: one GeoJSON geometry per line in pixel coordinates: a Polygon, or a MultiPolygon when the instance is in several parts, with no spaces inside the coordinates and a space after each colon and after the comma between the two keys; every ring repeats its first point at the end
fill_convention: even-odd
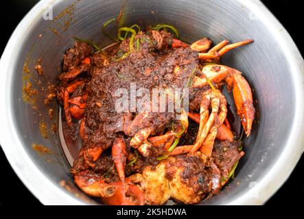
{"type": "MultiPolygon", "coordinates": [[[[23,52],[19,55],[19,65],[13,66],[14,88],[10,95],[14,99],[14,123],[19,128],[25,151],[62,191],[71,196],[77,194],[75,198],[82,198],[86,203],[93,202],[73,185],[58,133],[53,133],[50,129],[51,125],[58,122],[56,101],[53,99],[48,106],[55,109],[54,120],[51,120],[44,103],[47,92],[40,91],[36,103],[30,104],[24,101],[26,96],[23,86],[26,86],[27,79],[32,81],[34,88],[40,90],[42,87],[47,89],[48,82],[54,83],[60,73],[62,55],[73,45],[73,36],[91,39],[102,46],[110,44],[111,40],[102,34],[102,23],[116,17],[121,9],[124,11],[121,25],[136,23],[146,27],[156,23],[169,23],[178,29],[180,39],[186,42],[194,42],[204,36],[211,38],[213,42],[223,39],[231,42],[246,38],[255,40],[253,44],[227,53],[222,59],[222,63],[242,71],[252,86],[258,119],[253,125],[251,136],[244,138],[246,155],[237,168],[234,181],[206,203],[226,203],[249,190],[266,174],[280,149],[283,149],[292,124],[290,121],[294,112],[294,90],[290,66],[279,64],[286,60],[283,51],[278,47],[279,42],[273,38],[264,23],[240,1],[66,0],[55,3],[53,21],[45,21],[39,16],[28,27],[28,34],[23,39],[23,52]],[[40,58],[43,77],[37,77],[34,70],[40,58]],[[27,64],[28,70],[24,68],[24,64],[27,64]],[[34,81],[35,77],[41,81],[39,86],[34,81]],[[43,123],[47,127],[47,138],[41,135],[43,123]],[[279,124],[283,128],[277,128],[279,124]],[[33,144],[43,144],[50,151],[41,153],[33,149],[33,144]]],[[[108,31],[114,35],[116,29],[117,25],[112,24],[108,31]]]]}

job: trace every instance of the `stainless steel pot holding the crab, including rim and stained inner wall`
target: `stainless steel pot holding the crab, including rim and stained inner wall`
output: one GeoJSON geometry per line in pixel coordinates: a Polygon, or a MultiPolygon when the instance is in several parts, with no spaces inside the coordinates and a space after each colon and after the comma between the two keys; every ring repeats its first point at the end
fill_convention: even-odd
{"type": "MultiPolygon", "coordinates": [[[[222,62],[241,70],[255,89],[259,123],[244,142],[246,156],[235,180],[205,204],[265,203],[303,153],[304,62],[285,29],[256,0],[40,1],[14,31],[0,64],[1,146],[16,174],[43,204],[95,203],[73,185],[58,134],[49,129],[47,139],[40,134],[42,120],[46,127],[54,123],[43,98],[36,99],[38,110],[33,110],[24,101],[23,86],[29,77],[34,79],[39,57],[48,77],[41,80],[41,86],[46,88],[48,81],[56,80],[62,54],[73,44],[72,36],[110,43],[101,25],[121,8],[125,25],[170,23],[187,42],[203,36],[215,42],[255,40],[232,51],[222,62]],[[45,20],[51,15],[54,20],[45,20]],[[52,153],[37,153],[34,143],[52,153]]],[[[56,101],[51,106],[56,107],[56,101]]]]}

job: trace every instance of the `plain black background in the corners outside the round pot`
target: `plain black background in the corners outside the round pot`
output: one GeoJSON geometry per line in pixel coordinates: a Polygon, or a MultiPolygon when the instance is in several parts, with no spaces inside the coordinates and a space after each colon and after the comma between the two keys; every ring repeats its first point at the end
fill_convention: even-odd
{"type": "MultiPolygon", "coordinates": [[[[10,34],[23,16],[32,8],[35,0],[1,1],[1,43],[0,53],[3,52],[10,34]]],[[[279,21],[288,30],[294,42],[304,53],[303,40],[303,11],[301,1],[264,0],[264,4],[277,16],[279,21]]],[[[270,198],[266,205],[299,205],[304,203],[304,156],[285,182],[282,188],[270,198]]],[[[22,205],[40,205],[40,202],[25,188],[23,183],[8,164],[0,147],[0,205],[15,205],[21,201],[22,205]]]]}

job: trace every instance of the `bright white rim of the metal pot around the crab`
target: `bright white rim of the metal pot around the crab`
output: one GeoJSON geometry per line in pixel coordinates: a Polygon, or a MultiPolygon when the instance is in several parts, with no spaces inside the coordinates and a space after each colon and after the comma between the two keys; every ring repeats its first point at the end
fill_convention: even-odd
{"type": "MultiPolygon", "coordinates": [[[[8,90],[10,91],[11,88],[12,71],[14,70],[11,66],[16,62],[14,54],[18,53],[20,49],[18,44],[22,42],[28,27],[36,21],[37,16],[43,14],[48,5],[58,1],[60,0],[39,1],[16,27],[5,47],[0,61],[0,69],[2,71],[0,74],[0,103],[2,103],[0,105],[0,121],[2,124],[0,127],[0,142],[16,175],[41,203],[45,205],[85,205],[86,203],[79,198],[75,198],[60,185],[55,185],[51,182],[27,155],[16,129],[12,125],[12,104],[11,99],[8,98],[9,95],[7,95],[8,90]]],[[[280,42],[280,46],[285,51],[285,57],[290,64],[292,82],[295,89],[296,109],[294,118],[291,121],[290,136],[284,150],[281,151],[279,158],[274,162],[267,174],[262,176],[257,182],[255,190],[246,190],[235,200],[226,203],[226,205],[261,205],[274,192],[277,192],[285,180],[288,179],[304,151],[304,136],[301,134],[301,130],[304,129],[304,61],[288,32],[261,1],[237,1],[254,11],[264,21],[266,27],[272,31],[277,41],[280,42]],[[258,197],[255,196],[256,192],[259,192],[258,197]]]]}

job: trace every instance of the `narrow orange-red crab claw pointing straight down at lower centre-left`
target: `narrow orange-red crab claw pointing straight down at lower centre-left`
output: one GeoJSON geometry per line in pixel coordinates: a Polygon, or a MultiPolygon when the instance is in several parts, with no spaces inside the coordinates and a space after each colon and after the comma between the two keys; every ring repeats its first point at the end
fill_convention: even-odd
{"type": "Polygon", "coordinates": [[[112,157],[119,179],[125,182],[125,166],[127,160],[126,144],[123,138],[117,138],[112,146],[112,157]]]}

